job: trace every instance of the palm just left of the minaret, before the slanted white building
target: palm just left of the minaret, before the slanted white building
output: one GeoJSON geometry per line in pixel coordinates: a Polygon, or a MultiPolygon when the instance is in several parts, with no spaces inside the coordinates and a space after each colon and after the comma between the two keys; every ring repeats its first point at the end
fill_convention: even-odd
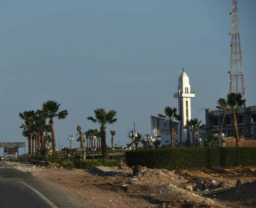
{"type": "Polygon", "coordinates": [[[177,121],[181,120],[181,117],[177,115],[177,108],[171,108],[169,106],[164,108],[164,113],[165,115],[162,115],[158,113],[158,116],[160,118],[166,118],[169,121],[169,128],[170,128],[170,133],[171,133],[171,148],[174,148],[174,128],[173,128],[173,123],[172,121],[175,119],[177,121]]]}

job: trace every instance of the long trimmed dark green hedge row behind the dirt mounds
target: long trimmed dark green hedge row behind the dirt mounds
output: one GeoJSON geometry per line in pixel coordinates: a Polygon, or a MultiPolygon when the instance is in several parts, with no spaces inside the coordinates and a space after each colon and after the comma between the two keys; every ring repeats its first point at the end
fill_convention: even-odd
{"type": "Polygon", "coordinates": [[[126,151],[128,166],[168,170],[256,165],[256,147],[157,148],[126,151]]]}

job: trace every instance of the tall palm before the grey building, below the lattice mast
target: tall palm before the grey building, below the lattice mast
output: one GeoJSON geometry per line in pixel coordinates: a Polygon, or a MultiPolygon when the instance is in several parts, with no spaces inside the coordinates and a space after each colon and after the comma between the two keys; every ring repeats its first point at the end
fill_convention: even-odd
{"type": "Polygon", "coordinates": [[[236,111],[239,110],[240,107],[242,107],[245,104],[245,99],[243,99],[241,93],[234,93],[231,92],[230,94],[227,94],[227,109],[232,113],[232,123],[233,123],[233,129],[234,133],[236,135],[236,146],[240,147],[240,140],[239,140],[239,134],[238,134],[238,127],[237,127],[237,119],[236,119],[236,111]]]}

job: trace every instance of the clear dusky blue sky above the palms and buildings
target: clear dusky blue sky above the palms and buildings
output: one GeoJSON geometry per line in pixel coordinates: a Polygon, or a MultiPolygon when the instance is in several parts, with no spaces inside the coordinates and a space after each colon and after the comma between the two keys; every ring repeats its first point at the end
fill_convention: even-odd
{"type": "MultiPolygon", "coordinates": [[[[177,107],[178,77],[190,78],[192,118],[229,92],[231,0],[1,0],[0,142],[24,142],[18,113],[47,100],[67,109],[55,120],[58,147],[93,110],[117,111],[115,143],[133,129],[151,133],[150,115],[177,107]]],[[[238,4],[247,104],[256,104],[255,0],[238,4]]],[[[78,142],[73,142],[78,147],[78,142]]]]}

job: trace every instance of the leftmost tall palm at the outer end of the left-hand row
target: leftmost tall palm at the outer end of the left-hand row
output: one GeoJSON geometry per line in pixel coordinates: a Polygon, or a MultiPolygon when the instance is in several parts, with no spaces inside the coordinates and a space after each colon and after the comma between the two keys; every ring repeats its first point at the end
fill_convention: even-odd
{"type": "Polygon", "coordinates": [[[31,126],[33,124],[33,116],[35,111],[29,110],[24,111],[23,113],[19,113],[19,116],[22,120],[24,120],[24,124],[21,124],[20,128],[23,128],[23,130],[28,130],[28,140],[29,140],[29,154],[32,154],[32,130],[31,126]]]}

